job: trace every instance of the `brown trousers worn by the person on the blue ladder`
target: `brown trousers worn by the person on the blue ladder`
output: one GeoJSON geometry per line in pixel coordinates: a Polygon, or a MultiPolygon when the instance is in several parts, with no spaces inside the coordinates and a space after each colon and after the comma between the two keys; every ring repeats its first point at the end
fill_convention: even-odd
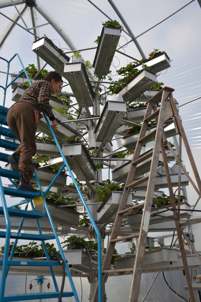
{"type": "Polygon", "coordinates": [[[30,183],[34,175],[34,164],[31,159],[36,154],[37,124],[34,106],[27,102],[15,103],[8,110],[7,123],[21,143],[15,150],[20,154],[19,170],[22,170],[24,180],[30,183]]]}

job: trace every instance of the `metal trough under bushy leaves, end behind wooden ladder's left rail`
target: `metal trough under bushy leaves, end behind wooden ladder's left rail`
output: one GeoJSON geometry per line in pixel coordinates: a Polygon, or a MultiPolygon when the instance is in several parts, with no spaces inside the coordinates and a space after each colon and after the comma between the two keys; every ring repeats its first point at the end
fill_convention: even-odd
{"type": "MultiPolygon", "coordinates": [[[[123,192],[111,191],[97,210],[97,223],[114,222],[123,192]]],[[[127,206],[132,205],[132,193],[129,193],[127,206]]]]}

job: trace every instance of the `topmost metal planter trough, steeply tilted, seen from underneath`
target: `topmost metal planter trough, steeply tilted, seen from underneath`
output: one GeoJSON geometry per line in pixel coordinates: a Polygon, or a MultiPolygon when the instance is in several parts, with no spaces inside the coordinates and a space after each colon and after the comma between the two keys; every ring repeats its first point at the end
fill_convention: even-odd
{"type": "Polygon", "coordinates": [[[94,74],[100,77],[107,76],[120,36],[120,28],[110,26],[104,26],[102,28],[93,63],[93,67],[95,68],[94,74]]]}

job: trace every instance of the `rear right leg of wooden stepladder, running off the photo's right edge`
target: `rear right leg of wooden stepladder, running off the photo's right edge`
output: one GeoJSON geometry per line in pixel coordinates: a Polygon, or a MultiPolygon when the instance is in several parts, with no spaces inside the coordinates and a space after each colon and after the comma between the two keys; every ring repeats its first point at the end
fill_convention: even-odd
{"type": "Polygon", "coordinates": [[[200,177],[199,177],[199,173],[198,173],[198,170],[197,170],[195,161],[194,161],[194,159],[193,159],[193,155],[192,155],[192,152],[191,152],[189,143],[188,143],[188,141],[187,141],[187,137],[186,137],[186,134],[185,134],[185,132],[184,132],[182,122],[181,122],[181,120],[179,119],[177,107],[176,107],[176,105],[175,105],[174,98],[173,98],[172,95],[170,96],[170,102],[171,102],[171,106],[172,106],[173,111],[174,111],[175,113],[177,112],[177,113],[174,115],[174,116],[175,116],[175,120],[177,121],[177,125],[178,125],[178,128],[179,128],[179,130],[180,130],[181,136],[182,136],[182,138],[183,138],[183,143],[184,143],[184,146],[185,146],[185,148],[186,148],[186,151],[187,151],[187,154],[188,154],[188,157],[189,157],[189,160],[190,160],[192,169],[193,169],[193,173],[194,173],[194,175],[195,175],[195,179],[196,179],[196,182],[197,182],[199,191],[201,192],[201,180],[200,180],[200,177]]]}

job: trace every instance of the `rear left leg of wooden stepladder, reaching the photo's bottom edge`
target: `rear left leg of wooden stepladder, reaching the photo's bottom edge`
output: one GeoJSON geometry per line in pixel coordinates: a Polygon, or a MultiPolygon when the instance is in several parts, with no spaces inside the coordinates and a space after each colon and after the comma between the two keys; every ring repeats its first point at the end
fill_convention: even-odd
{"type": "MultiPolygon", "coordinates": [[[[162,152],[163,159],[165,159],[166,153],[165,153],[164,146],[162,146],[161,152],[162,152]]],[[[170,172],[169,172],[167,160],[164,160],[164,168],[165,168],[166,178],[167,178],[167,182],[168,182],[168,189],[169,189],[169,193],[170,193],[171,204],[172,204],[173,208],[176,208],[174,192],[173,192],[173,188],[172,188],[172,184],[171,184],[171,178],[170,178],[170,172]]],[[[189,273],[189,269],[188,269],[186,254],[185,254],[185,250],[184,250],[184,246],[183,246],[183,238],[182,238],[180,222],[179,222],[177,211],[173,211],[173,215],[174,215],[174,218],[176,218],[175,226],[176,226],[176,230],[177,230],[179,245],[181,248],[180,252],[181,252],[181,256],[182,256],[182,260],[183,260],[183,267],[184,267],[186,281],[187,281],[187,285],[188,285],[188,289],[189,289],[190,300],[191,300],[191,302],[195,302],[195,297],[193,294],[193,288],[192,288],[190,273],[189,273]]]]}

